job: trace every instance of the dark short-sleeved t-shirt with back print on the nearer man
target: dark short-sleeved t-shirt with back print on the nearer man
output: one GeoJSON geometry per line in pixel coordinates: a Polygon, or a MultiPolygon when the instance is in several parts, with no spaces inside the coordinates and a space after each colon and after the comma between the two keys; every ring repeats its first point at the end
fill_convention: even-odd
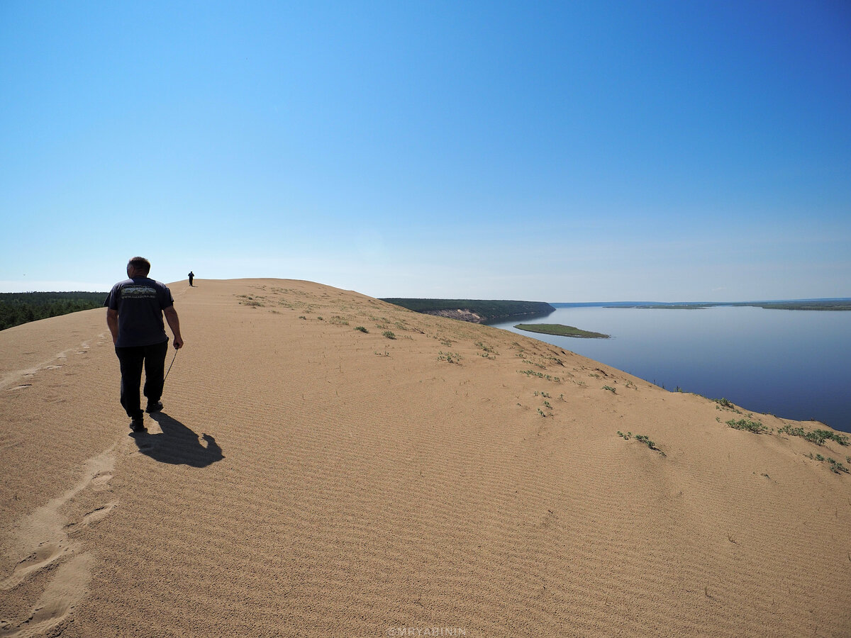
{"type": "Polygon", "coordinates": [[[173,306],[174,299],[164,283],[148,277],[125,279],[112,287],[104,305],[118,311],[117,348],[168,341],[163,310],[173,306]]]}

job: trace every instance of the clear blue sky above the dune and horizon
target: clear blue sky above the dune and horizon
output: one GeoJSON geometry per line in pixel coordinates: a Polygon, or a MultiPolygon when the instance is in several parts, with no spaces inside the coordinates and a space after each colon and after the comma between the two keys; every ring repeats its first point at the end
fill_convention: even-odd
{"type": "Polygon", "coordinates": [[[851,296],[851,3],[0,3],[0,290],[851,296]]]}

